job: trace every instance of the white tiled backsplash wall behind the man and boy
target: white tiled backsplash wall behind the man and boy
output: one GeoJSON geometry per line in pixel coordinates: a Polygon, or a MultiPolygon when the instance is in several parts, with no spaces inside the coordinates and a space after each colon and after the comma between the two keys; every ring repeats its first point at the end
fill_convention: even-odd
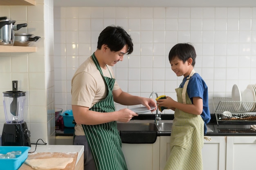
{"type": "Polygon", "coordinates": [[[183,77],[171,71],[168,53],[183,42],[195,46],[195,71],[207,82],[211,113],[213,97],[231,97],[234,84],[242,92],[256,84],[256,8],[55,7],[56,107],[71,109],[72,76],[109,25],[122,26],[134,42],[134,52],[113,67],[123,91],[143,97],[156,91],[176,99],[183,77]]]}

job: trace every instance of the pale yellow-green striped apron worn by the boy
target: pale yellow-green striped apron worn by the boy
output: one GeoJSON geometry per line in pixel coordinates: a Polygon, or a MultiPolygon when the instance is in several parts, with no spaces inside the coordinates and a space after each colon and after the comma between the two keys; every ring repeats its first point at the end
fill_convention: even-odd
{"type": "MultiPolygon", "coordinates": [[[[186,93],[191,71],[183,88],[176,88],[177,101],[192,104],[186,93]]],[[[193,115],[175,109],[171,132],[171,154],[164,170],[203,170],[202,147],[204,145],[204,121],[200,115],[193,115]]]]}

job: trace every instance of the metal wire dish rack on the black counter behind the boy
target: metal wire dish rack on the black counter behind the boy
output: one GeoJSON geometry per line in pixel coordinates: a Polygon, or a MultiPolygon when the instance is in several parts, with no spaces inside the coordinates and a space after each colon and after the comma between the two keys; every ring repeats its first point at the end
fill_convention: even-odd
{"type": "Polygon", "coordinates": [[[213,97],[217,124],[256,124],[256,102],[213,97]]]}

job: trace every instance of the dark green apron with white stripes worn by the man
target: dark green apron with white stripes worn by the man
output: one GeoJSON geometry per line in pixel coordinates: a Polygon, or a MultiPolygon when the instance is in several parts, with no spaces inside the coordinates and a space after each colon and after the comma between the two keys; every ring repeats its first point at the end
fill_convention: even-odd
{"type": "MultiPolygon", "coordinates": [[[[115,79],[103,76],[101,67],[99,66],[99,62],[94,53],[92,54],[92,60],[97,66],[102,77],[105,79],[106,87],[108,88],[108,95],[105,99],[96,103],[89,110],[108,114],[108,112],[115,111],[112,95],[115,79]]],[[[98,125],[82,126],[88,140],[92,156],[94,157],[97,170],[127,170],[126,161],[121,149],[122,141],[117,130],[116,121],[98,125]]]]}

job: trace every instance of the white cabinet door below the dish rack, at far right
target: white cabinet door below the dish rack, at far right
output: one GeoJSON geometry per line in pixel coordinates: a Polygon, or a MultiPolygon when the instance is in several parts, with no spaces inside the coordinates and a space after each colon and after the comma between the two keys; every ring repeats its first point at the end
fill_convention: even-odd
{"type": "Polygon", "coordinates": [[[255,169],[255,153],[256,136],[228,136],[226,170],[255,169]]]}

